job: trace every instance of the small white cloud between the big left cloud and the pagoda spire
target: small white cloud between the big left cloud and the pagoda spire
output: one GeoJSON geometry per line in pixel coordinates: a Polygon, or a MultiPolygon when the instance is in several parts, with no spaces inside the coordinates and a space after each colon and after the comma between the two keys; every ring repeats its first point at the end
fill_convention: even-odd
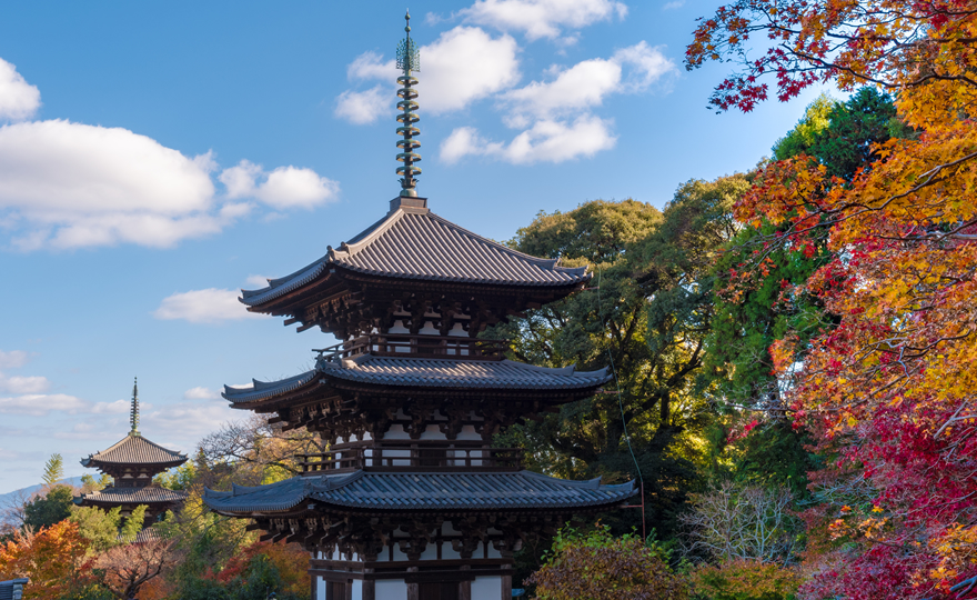
{"type": "Polygon", "coordinates": [[[335,200],[339,193],[339,183],[312,169],[279,167],[269,173],[246,160],[224,169],[220,180],[228,198],[256,198],[276,209],[312,208],[335,200]]]}

